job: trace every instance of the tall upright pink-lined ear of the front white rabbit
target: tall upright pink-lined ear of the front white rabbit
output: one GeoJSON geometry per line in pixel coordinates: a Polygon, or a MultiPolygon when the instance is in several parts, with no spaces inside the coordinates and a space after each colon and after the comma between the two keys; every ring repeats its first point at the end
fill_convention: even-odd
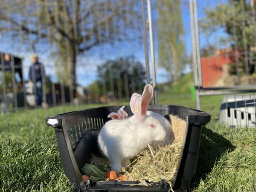
{"type": "Polygon", "coordinates": [[[151,101],[151,98],[153,96],[154,89],[151,84],[147,84],[144,88],[144,91],[142,93],[142,98],[141,98],[141,104],[140,104],[140,116],[145,117],[147,110],[148,110],[148,105],[151,101]]]}

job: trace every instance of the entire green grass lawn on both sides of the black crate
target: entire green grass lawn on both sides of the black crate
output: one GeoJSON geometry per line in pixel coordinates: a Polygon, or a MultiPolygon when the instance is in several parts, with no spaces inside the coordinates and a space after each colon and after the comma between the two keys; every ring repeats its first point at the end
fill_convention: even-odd
{"type": "MultiPolygon", "coordinates": [[[[172,88],[160,87],[159,103],[195,108],[185,76],[172,88]],[[180,91],[179,91],[180,90],[180,91]],[[180,93],[180,95],[179,95],[180,93]]],[[[221,96],[201,100],[212,121],[202,130],[201,147],[192,191],[256,190],[256,131],[218,125],[221,96]]],[[[122,105],[111,103],[108,105],[122,105]]],[[[101,105],[59,106],[0,115],[0,189],[2,191],[70,191],[47,116],[101,105]]]]}

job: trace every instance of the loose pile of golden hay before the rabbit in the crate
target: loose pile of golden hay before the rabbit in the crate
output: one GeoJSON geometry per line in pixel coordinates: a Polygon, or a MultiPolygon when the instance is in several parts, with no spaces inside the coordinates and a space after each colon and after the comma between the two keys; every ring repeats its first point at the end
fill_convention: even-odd
{"type": "Polygon", "coordinates": [[[182,143],[177,142],[157,150],[149,145],[148,149],[141,152],[130,166],[122,169],[122,172],[128,175],[129,180],[172,181],[177,170],[181,149],[182,143]]]}

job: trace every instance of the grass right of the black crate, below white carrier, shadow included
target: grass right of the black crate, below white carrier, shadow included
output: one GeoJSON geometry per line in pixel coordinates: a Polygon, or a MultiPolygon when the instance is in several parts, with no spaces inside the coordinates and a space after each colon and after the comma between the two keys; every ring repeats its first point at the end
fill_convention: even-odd
{"type": "Polygon", "coordinates": [[[193,191],[255,191],[256,131],[210,123],[203,129],[193,191]]]}

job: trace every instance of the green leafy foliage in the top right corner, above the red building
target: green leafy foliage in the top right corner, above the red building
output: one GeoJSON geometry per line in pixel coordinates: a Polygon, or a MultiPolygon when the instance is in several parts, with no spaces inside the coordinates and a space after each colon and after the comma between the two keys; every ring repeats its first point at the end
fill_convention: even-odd
{"type": "Polygon", "coordinates": [[[256,26],[253,24],[251,9],[250,2],[246,0],[229,0],[228,3],[204,10],[206,17],[201,20],[201,27],[208,32],[224,28],[230,35],[228,41],[233,41],[239,48],[244,45],[253,47],[253,32],[256,26]]]}

